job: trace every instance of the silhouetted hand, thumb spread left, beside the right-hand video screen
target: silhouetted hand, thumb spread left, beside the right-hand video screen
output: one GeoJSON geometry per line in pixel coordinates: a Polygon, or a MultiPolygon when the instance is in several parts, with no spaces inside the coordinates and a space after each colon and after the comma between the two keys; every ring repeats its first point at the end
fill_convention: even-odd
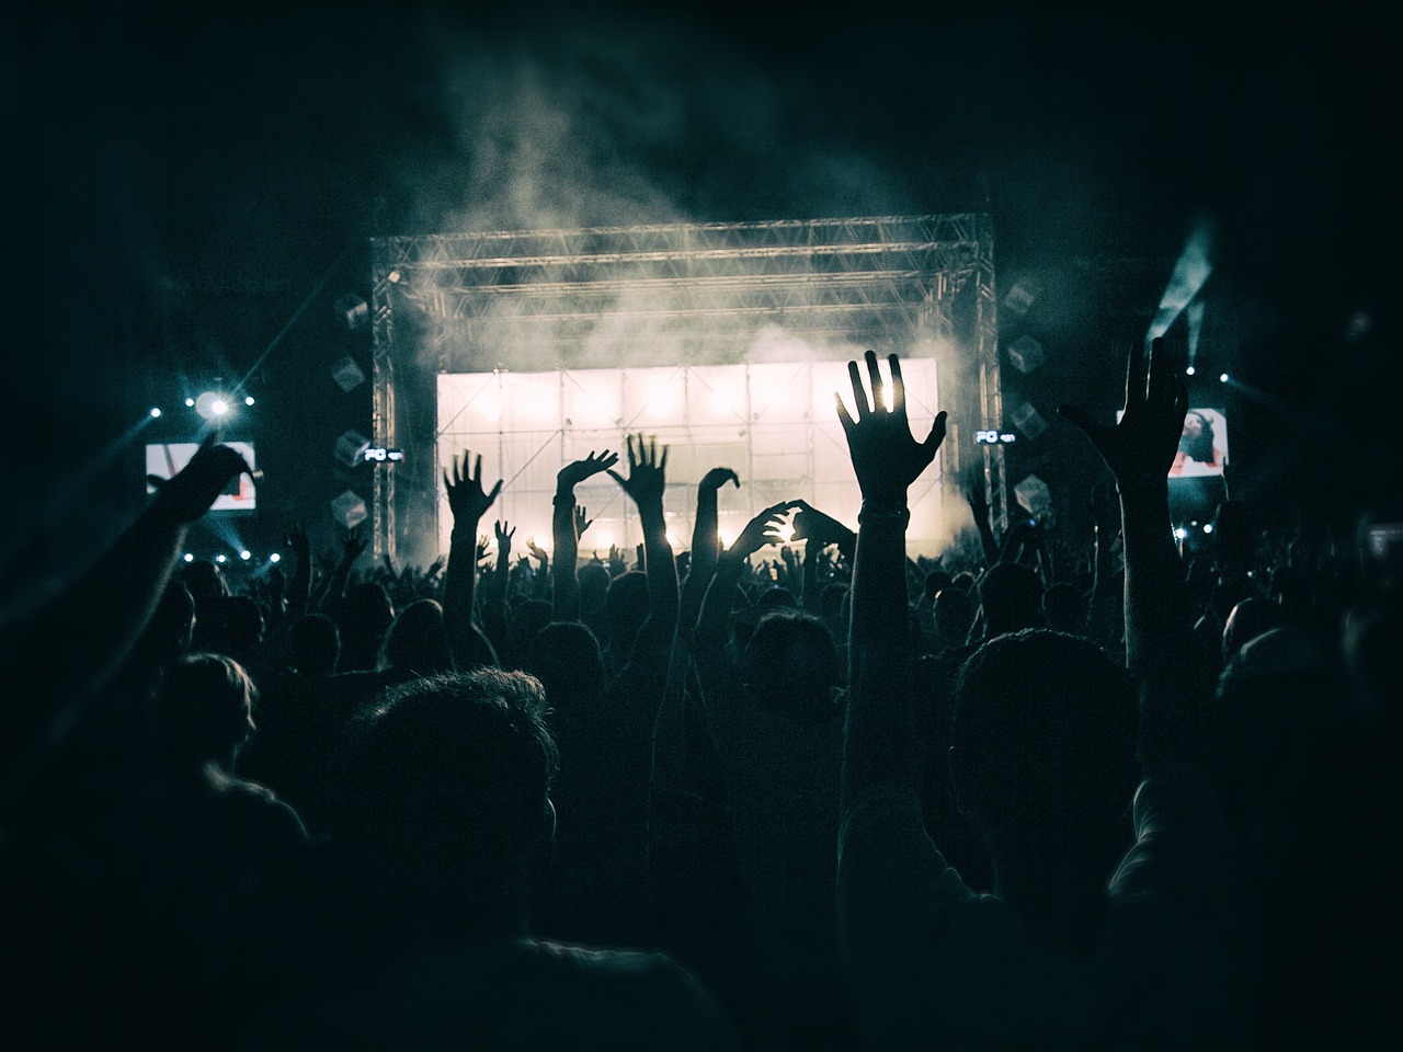
{"type": "Polygon", "coordinates": [[[1188,412],[1188,384],[1163,338],[1131,349],[1125,369],[1125,411],[1120,424],[1097,424],[1076,405],[1059,405],[1106,460],[1120,484],[1169,478],[1188,412]]]}

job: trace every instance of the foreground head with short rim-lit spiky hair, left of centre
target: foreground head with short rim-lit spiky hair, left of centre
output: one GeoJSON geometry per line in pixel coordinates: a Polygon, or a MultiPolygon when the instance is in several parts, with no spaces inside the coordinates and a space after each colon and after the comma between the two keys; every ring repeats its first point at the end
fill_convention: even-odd
{"type": "Polygon", "coordinates": [[[488,868],[528,849],[560,763],[543,701],[535,676],[492,666],[384,692],[340,749],[333,835],[396,857],[450,854],[488,868]]]}

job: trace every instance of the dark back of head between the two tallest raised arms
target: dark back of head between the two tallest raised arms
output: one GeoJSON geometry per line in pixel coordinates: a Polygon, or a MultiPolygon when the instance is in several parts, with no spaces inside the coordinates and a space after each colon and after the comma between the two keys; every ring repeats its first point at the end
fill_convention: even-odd
{"type": "Polygon", "coordinates": [[[1139,707],[1124,668],[1049,628],[995,637],[955,676],[961,805],[986,829],[1072,833],[1124,815],[1139,707]]]}

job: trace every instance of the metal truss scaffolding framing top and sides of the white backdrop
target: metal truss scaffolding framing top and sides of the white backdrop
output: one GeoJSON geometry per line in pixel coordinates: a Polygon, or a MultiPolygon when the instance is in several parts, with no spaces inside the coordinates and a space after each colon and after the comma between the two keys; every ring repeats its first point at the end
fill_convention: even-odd
{"type": "Polygon", "coordinates": [[[934,352],[946,477],[981,470],[1007,525],[993,226],[984,213],[376,237],[372,250],[373,551],[400,557],[410,505],[436,492],[425,407],[443,372],[737,363],[774,339],[805,353],[934,352]],[[766,344],[766,341],[770,341],[766,344]],[[947,383],[951,380],[953,383],[947,383]],[[982,457],[971,463],[971,457],[982,457]]]}

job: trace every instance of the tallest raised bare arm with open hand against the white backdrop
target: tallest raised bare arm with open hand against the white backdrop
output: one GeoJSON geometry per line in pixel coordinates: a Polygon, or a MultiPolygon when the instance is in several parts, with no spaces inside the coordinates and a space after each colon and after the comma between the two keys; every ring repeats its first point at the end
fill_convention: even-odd
{"type": "Polygon", "coordinates": [[[906,491],[930,466],[946,436],[940,412],[918,442],[906,418],[906,389],[897,355],[887,356],[891,408],[877,355],[866,353],[871,393],[857,362],[847,363],[856,417],[838,398],[838,418],[861,490],[852,582],[849,707],[843,742],[842,814],[878,783],[916,793],[918,727],[908,689],[906,491]]]}

